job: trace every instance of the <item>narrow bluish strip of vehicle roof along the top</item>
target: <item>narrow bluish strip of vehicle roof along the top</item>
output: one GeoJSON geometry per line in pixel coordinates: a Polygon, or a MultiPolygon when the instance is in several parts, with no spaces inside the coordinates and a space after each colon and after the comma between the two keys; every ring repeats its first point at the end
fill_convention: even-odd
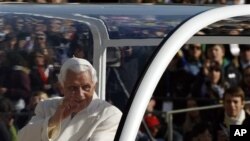
{"type": "Polygon", "coordinates": [[[0,3],[1,12],[25,12],[55,16],[84,15],[195,15],[211,9],[208,6],[154,5],[152,4],[10,4],[0,3]],[[35,7],[34,7],[35,6],[35,7]]]}

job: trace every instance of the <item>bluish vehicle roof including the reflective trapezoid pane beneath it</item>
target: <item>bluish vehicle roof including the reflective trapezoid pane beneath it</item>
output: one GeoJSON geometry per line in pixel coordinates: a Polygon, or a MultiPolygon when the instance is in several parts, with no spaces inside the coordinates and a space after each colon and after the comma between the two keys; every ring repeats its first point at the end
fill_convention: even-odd
{"type": "Polygon", "coordinates": [[[152,4],[0,4],[1,13],[31,14],[48,18],[82,20],[92,17],[105,24],[110,39],[162,38],[182,21],[211,9],[207,6],[152,4]],[[79,17],[80,15],[80,17],[79,17]],[[114,33],[115,32],[115,33],[114,33]],[[124,35],[117,37],[117,34],[124,35]],[[157,34],[163,32],[163,34],[157,34]]]}

